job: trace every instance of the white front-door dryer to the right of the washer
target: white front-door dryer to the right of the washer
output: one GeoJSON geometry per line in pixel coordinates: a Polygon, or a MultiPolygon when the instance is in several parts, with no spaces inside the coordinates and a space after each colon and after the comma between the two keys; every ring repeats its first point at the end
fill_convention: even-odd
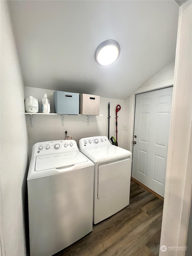
{"type": "Polygon", "coordinates": [[[82,138],[79,149],[95,164],[93,223],[97,224],[129,204],[132,154],[112,145],[106,136],[82,138]]]}

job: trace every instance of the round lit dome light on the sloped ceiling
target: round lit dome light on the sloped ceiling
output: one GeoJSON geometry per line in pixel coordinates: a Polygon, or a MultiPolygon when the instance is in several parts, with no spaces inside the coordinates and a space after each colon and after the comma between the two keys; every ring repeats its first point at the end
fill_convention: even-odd
{"type": "Polygon", "coordinates": [[[120,46],[114,40],[102,42],[95,51],[95,60],[101,66],[110,66],[119,58],[120,46]]]}

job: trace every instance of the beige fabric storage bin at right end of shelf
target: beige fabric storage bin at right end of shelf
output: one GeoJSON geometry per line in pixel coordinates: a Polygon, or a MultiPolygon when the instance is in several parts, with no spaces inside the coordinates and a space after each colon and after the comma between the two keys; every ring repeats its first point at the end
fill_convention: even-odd
{"type": "Polygon", "coordinates": [[[79,94],[79,114],[99,116],[100,96],[79,94]]]}

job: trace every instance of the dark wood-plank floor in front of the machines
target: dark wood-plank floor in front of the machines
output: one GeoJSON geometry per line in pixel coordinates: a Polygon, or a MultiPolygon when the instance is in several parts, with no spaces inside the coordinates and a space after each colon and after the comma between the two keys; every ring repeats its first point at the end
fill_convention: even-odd
{"type": "Polygon", "coordinates": [[[131,180],[130,204],[54,256],[159,255],[163,201],[131,180]]]}

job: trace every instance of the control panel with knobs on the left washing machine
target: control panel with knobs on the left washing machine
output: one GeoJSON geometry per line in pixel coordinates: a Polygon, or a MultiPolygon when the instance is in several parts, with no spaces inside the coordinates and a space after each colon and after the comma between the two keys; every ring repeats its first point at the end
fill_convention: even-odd
{"type": "Polygon", "coordinates": [[[36,143],[33,146],[32,156],[47,155],[69,151],[79,151],[75,140],[55,140],[36,143]]]}

